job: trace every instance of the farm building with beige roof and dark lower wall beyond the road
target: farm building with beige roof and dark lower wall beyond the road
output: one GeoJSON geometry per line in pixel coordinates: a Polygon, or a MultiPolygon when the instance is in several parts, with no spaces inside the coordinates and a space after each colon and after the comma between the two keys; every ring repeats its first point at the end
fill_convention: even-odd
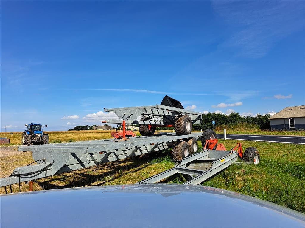
{"type": "Polygon", "coordinates": [[[271,130],[305,130],[305,105],[287,107],[269,119],[271,130]]]}

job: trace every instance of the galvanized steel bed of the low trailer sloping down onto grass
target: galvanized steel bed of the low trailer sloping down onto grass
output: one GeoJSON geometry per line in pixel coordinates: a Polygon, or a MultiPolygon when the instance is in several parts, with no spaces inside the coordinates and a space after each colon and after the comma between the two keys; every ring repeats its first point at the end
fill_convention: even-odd
{"type": "Polygon", "coordinates": [[[200,185],[206,179],[235,163],[237,156],[235,150],[204,150],[184,158],[174,168],[140,181],[139,184],[157,183],[180,173],[187,180],[185,185],[200,185]]]}

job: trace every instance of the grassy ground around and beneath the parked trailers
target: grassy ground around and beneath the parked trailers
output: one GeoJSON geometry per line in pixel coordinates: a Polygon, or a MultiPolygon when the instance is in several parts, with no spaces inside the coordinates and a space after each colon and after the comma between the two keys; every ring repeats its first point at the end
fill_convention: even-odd
{"type": "MultiPolygon", "coordinates": [[[[231,149],[237,140],[219,140],[231,149]]],[[[305,212],[305,146],[284,143],[242,141],[243,149],[257,147],[260,152],[259,165],[231,165],[224,171],[205,181],[203,185],[251,195],[282,206],[305,212]]],[[[201,143],[199,147],[202,148],[201,143]]],[[[1,177],[11,174],[18,166],[32,162],[31,152],[0,157],[1,177]]],[[[162,154],[146,156],[142,159],[124,160],[101,164],[46,179],[46,189],[70,188],[98,185],[134,184],[142,179],[172,168],[169,150],[162,154]]],[[[176,175],[165,183],[183,183],[184,178],[176,175]]],[[[34,189],[42,189],[43,179],[34,181],[34,189]]],[[[28,191],[28,185],[21,184],[21,191],[28,191]]],[[[13,192],[19,186],[13,185],[13,192]]],[[[0,193],[5,193],[0,189],[0,193]]]]}

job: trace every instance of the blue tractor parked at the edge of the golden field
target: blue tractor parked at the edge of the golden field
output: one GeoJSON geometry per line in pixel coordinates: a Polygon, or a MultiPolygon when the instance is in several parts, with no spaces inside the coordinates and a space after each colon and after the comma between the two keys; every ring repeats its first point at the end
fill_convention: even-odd
{"type": "MultiPolygon", "coordinates": [[[[49,136],[42,132],[41,124],[39,123],[30,123],[25,124],[27,130],[22,133],[22,145],[38,145],[38,144],[48,144],[49,136]]],[[[48,125],[45,125],[47,127],[48,125]]]]}

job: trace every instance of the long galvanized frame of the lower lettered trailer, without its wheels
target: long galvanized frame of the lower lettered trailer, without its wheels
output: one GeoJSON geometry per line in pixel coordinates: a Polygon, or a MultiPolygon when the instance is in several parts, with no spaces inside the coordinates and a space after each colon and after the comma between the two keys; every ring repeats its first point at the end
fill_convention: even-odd
{"type": "Polygon", "coordinates": [[[201,134],[199,132],[178,136],[174,133],[161,133],[127,140],[104,139],[20,146],[19,151],[32,151],[33,159],[38,164],[16,168],[11,176],[0,179],[0,187],[157,152],[172,148],[179,141],[192,138],[199,140],[201,134]]]}

